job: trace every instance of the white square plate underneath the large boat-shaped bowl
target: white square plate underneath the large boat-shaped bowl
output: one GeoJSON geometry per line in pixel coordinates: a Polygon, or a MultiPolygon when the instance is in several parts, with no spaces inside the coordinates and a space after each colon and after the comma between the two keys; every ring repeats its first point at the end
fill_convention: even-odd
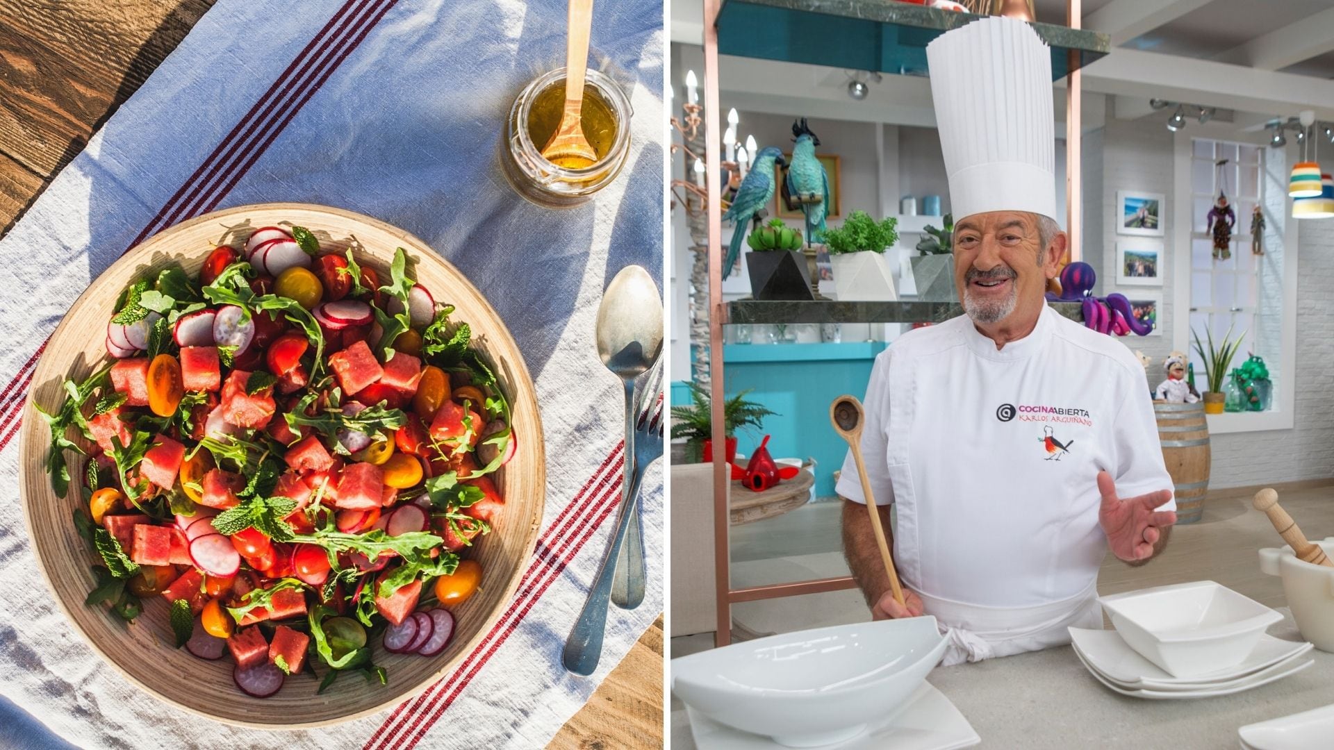
{"type": "MultiPolygon", "coordinates": [[[[751,734],[718,723],[686,706],[690,731],[699,750],[778,750],[768,737],[751,734]]],[[[968,719],[930,682],[923,682],[908,697],[900,710],[863,734],[822,745],[819,750],[958,750],[971,747],[982,739],[968,719]]]]}

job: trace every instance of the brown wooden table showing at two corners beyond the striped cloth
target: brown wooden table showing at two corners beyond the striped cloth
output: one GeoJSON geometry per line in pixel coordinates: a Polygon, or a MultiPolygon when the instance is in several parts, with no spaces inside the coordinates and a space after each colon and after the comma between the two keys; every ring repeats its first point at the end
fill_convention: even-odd
{"type": "MultiPolygon", "coordinates": [[[[0,0],[0,236],[213,0],[0,0]]],[[[660,747],[663,619],[551,747],[660,747]]]]}

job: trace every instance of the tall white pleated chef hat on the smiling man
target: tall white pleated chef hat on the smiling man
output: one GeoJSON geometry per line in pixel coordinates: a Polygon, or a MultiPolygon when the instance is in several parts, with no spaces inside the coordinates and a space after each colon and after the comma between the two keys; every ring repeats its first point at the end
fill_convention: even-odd
{"type": "Polygon", "coordinates": [[[1055,219],[1051,51],[1033,27],[986,17],[926,45],[955,220],[987,211],[1055,219]]]}

